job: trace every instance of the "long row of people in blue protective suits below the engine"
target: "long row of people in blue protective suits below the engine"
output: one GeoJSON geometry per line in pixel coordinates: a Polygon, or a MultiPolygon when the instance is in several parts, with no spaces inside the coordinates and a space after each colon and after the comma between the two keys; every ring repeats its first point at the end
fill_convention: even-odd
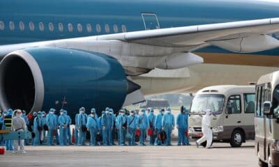
{"type": "MultiPolygon", "coordinates": [[[[116,138],[118,145],[121,146],[137,145],[136,141],[140,141],[140,145],[146,145],[146,135],[149,136],[149,145],[171,145],[172,131],[175,127],[179,132],[177,145],[190,145],[187,136],[188,110],[186,107],[181,108],[176,121],[170,108],[160,109],[158,115],[154,113],[154,109],[130,112],[121,109],[116,115],[113,109],[107,107],[98,117],[96,109],[91,109],[90,114],[87,115],[86,109],[81,107],[75,115],[73,133],[70,129],[72,120],[66,110],[61,109],[59,116],[55,114],[55,109],[50,109],[48,113],[33,112],[29,118],[25,111],[22,113],[20,110],[17,111],[19,114],[16,116],[20,116],[25,125],[20,127],[21,130],[28,129],[32,132],[32,140],[25,140],[25,145],[54,145],[54,143],[56,145],[86,145],[87,133],[90,135],[89,145],[116,145],[114,143],[116,138]]],[[[12,113],[11,109],[3,112],[3,116],[0,117],[2,129],[13,129],[8,122],[12,119],[12,113]]],[[[0,141],[0,144],[3,143],[6,145],[6,150],[14,150],[13,141],[0,141]]]]}

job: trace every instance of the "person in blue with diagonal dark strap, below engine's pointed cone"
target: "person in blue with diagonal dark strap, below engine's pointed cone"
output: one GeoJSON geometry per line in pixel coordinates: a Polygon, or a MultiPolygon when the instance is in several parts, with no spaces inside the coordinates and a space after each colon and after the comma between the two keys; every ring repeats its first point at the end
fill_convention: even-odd
{"type": "Polygon", "coordinates": [[[130,116],[127,117],[128,132],[130,133],[129,145],[135,144],[135,130],[137,129],[137,116],[135,116],[135,110],[130,111],[130,116]]]}

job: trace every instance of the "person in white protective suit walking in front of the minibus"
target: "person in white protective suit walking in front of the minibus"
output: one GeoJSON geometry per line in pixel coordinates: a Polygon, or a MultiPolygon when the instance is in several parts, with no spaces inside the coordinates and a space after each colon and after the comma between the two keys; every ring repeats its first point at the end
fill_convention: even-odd
{"type": "Polygon", "coordinates": [[[197,144],[201,145],[206,141],[206,148],[211,148],[212,143],[212,130],[211,130],[211,121],[210,121],[211,110],[206,110],[206,115],[202,118],[202,138],[197,140],[197,144]]]}

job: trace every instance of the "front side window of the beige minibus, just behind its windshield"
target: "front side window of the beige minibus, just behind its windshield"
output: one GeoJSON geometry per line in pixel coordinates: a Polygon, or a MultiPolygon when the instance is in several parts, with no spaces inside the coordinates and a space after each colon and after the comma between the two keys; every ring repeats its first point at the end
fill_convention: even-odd
{"type": "Polygon", "coordinates": [[[227,113],[241,113],[241,97],[240,95],[232,95],[227,100],[227,113]]]}

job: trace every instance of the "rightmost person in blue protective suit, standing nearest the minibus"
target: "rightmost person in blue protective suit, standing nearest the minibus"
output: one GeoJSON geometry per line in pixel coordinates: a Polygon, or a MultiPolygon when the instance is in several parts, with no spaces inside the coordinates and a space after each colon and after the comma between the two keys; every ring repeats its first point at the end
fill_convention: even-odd
{"type": "Polygon", "coordinates": [[[179,131],[179,141],[177,145],[188,145],[186,141],[186,129],[188,129],[188,114],[186,114],[186,107],[181,107],[181,113],[176,118],[176,128],[179,131]]]}

